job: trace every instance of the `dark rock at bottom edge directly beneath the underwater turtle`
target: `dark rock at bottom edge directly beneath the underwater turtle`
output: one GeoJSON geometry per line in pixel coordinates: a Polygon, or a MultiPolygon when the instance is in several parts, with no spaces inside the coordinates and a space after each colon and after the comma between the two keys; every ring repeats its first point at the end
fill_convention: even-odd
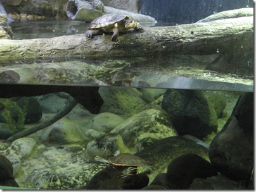
{"type": "Polygon", "coordinates": [[[87,189],[141,189],[148,185],[148,176],[144,174],[121,177],[122,169],[108,166],[93,176],[87,189]]]}

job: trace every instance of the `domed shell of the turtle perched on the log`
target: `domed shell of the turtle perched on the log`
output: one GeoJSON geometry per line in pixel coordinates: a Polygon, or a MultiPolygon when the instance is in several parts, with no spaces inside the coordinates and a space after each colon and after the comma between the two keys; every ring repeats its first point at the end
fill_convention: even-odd
{"type": "Polygon", "coordinates": [[[95,20],[91,21],[91,25],[88,27],[89,29],[94,28],[105,28],[111,25],[115,25],[115,23],[122,21],[122,20],[129,20],[130,17],[127,15],[114,15],[114,14],[106,14],[96,18],[95,20]]]}

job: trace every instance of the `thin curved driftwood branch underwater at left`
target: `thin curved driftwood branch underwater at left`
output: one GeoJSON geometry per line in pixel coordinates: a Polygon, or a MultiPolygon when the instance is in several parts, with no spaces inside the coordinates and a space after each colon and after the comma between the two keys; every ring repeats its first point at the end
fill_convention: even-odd
{"type": "Polygon", "coordinates": [[[72,97],[70,97],[68,99],[67,105],[60,112],[58,112],[58,114],[49,118],[44,123],[35,126],[34,128],[25,129],[23,131],[16,133],[13,136],[10,136],[10,138],[8,138],[8,141],[11,141],[11,142],[15,141],[18,138],[22,138],[24,136],[31,135],[32,133],[35,133],[36,131],[39,131],[41,129],[44,129],[44,128],[50,126],[51,124],[55,123],[56,121],[58,121],[59,119],[61,119],[65,115],[67,115],[70,111],[72,111],[72,109],[75,107],[75,105],[77,105],[77,101],[75,99],[73,99],[72,97]]]}

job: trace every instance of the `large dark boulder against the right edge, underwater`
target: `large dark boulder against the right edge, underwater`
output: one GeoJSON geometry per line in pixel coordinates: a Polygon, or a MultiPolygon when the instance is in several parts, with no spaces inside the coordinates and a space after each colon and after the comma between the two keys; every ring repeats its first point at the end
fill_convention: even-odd
{"type": "Polygon", "coordinates": [[[209,147],[210,161],[217,171],[246,184],[251,182],[253,172],[253,107],[250,107],[253,97],[250,95],[253,93],[244,93],[238,100],[233,115],[209,147]]]}

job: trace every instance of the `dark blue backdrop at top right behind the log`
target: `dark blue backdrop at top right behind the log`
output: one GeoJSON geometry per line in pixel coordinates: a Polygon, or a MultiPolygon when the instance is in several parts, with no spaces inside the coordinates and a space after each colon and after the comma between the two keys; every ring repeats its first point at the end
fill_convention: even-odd
{"type": "Polygon", "coordinates": [[[253,0],[140,0],[141,14],[153,16],[158,22],[195,23],[221,11],[253,8],[253,0]]]}

